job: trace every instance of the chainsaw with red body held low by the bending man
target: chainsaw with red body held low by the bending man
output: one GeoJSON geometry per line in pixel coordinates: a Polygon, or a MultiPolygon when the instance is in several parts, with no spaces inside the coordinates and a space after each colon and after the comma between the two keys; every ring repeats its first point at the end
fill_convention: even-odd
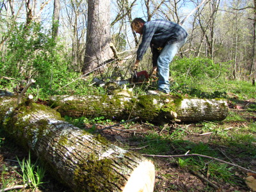
{"type": "Polygon", "coordinates": [[[108,81],[105,82],[103,80],[98,79],[97,77],[93,78],[92,82],[93,84],[96,84],[97,86],[106,86],[106,84],[109,83],[115,83],[117,86],[121,86],[123,84],[142,84],[142,83],[146,83],[149,82],[149,78],[150,76],[148,75],[147,70],[141,70],[140,72],[137,72],[136,70],[134,70],[134,72],[132,72],[132,76],[129,79],[124,79],[124,80],[116,80],[116,81],[108,81]]]}

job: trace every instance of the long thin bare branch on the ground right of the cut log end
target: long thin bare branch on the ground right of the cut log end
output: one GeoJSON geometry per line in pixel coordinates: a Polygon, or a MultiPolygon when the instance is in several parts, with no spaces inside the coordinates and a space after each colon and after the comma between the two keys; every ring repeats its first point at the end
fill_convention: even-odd
{"type": "Polygon", "coordinates": [[[204,155],[200,155],[200,154],[186,154],[186,155],[175,155],[175,156],[158,156],[158,155],[148,155],[148,154],[143,154],[143,156],[147,156],[147,157],[166,157],[166,158],[174,158],[174,157],[191,157],[191,156],[198,156],[198,157],[205,157],[207,159],[213,159],[215,161],[220,161],[221,163],[226,163],[226,164],[229,164],[231,166],[236,166],[237,168],[241,169],[241,170],[244,170],[246,172],[251,172],[251,173],[255,173],[254,171],[252,170],[248,170],[246,168],[244,168],[243,166],[239,166],[237,164],[234,164],[234,163],[229,163],[227,161],[223,161],[221,159],[218,159],[218,158],[215,158],[215,157],[210,157],[210,156],[204,156],[204,155]]]}

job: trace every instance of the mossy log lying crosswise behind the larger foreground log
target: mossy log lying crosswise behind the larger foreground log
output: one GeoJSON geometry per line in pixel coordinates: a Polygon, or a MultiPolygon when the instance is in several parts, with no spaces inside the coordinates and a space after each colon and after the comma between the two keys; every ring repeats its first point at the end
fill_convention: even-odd
{"type": "Polygon", "coordinates": [[[61,115],[72,117],[105,116],[122,120],[140,116],[148,122],[220,121],[228,115],[228,104],[222,99],[182,99],[178,96],[55,96],[49,100],[61,115]]]}

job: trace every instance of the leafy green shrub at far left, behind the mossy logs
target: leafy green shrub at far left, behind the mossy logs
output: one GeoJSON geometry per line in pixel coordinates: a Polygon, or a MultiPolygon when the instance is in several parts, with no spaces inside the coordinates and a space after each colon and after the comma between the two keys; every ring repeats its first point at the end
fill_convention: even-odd
{"type": "MultiPolygon", "coordinates": [[[[58,90],[80,74],[70,70],[70,58],[63,54],[64,47],[56,44],[49,31],[40,24],[17,24],[8,38],[7,49],[1,52],[0,73],[15,79],[35,79],[45,93],[58,90]]],[[[0,80],[0,86],[9,81],[0,80]]],[[[33,87],[32,87],[33,88],[33,87]]],[[[72,87],[74,88],[74,87],[72,87]]]]}

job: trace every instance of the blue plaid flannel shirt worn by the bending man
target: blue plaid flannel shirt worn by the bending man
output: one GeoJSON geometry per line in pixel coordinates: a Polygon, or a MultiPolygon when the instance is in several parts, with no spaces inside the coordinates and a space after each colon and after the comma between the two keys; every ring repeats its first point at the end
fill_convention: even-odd
{"type": "Polygon", "coordinates": [[[142,60],[149,45],[164,47],[166,44],[176,44],[184,40],[188,33],[175,22],[168,20],[152,20],[145,22],[141,44],[137,51],[137,60],[142,60]]]}

